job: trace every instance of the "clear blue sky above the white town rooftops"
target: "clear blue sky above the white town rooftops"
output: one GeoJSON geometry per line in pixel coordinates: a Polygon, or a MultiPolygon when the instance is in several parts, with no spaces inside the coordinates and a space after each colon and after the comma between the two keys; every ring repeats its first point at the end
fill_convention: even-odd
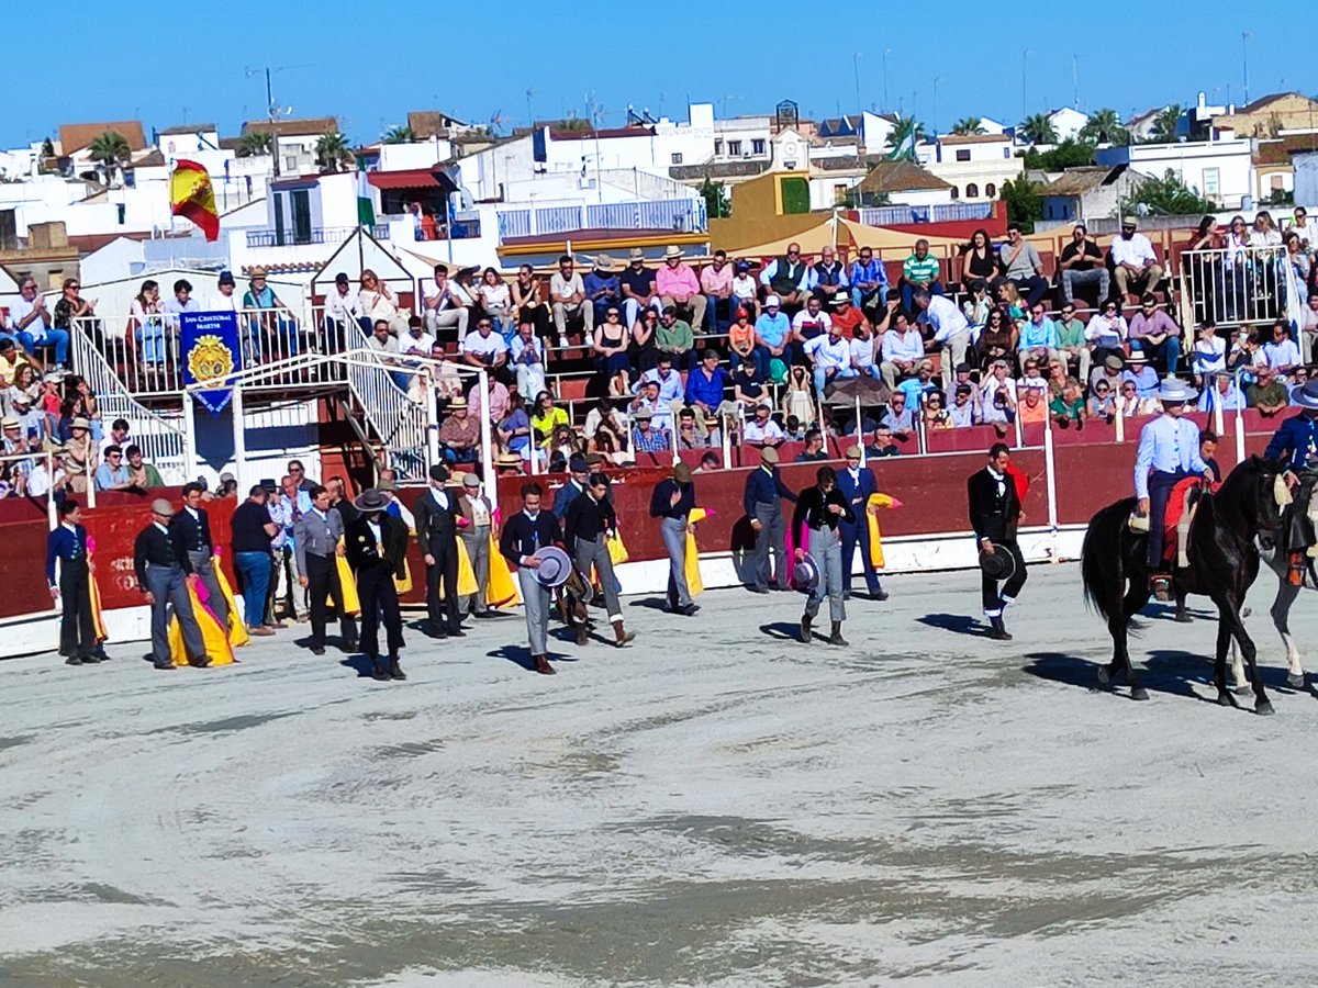
{"type": "MultiPolygon", "coordinates": [[[[1284,8],[1280,17],[1220,0],[1164,0],[1144,13],[1127,8],[1120,17],[1103,4],[1074,4],[1072,13],[1032,3],[904,4],[896,11],[800,0],[558,7],[465,5],[488,13],[455,30],[444,14],[460,8],[434,0],[237,0],[225,7],[136,0],[130,13],[71,0],[61,8],[71,29],[38,42],[49,71],[8,74],[0,144],[54,134],[61,123],[115,119],[138,119],[148,133],[210,121],[232,136],[243,120],[265,115],[264,66],[279,70],[274,94],[294,116],[335,115],[356,142],[405,123],[409,109],[444,109],[472,123],[497,111],[505,128],[523,125],[527,90],[539,119],[587,116],[593,94],[604,125],[619,125],[629,103],[681,120],[688,100],[712,101],[720,116],[768,112],[783,99],[813,117],[851,112],[859,103],[913,109],[927,126],[944,130],[971,115],[1014,124],[1023,111],[1070,105],[1077,91],[1081,109],[1110,105],[1123,116],[1190,104],[1199,90],[1210,101],[1224,103],[1230,92],[1242,103],[1242,32],[1251,34],[1244,42],[1251,97],[1278,90],[1318,94],[1311,32],[1288,49],[1305,20],[1296,13],[1307,9],[1304,4],[1284,8]],[[931,18],[932,11],[954,9],[963,17],[931,18]],[[215,20],[220,13],[223,21],[215,20]],[[799,26],[782,26],[793,18],[799,26]],[[170,40],[166,29],[181,22],[198,25],[190,28],[195,33],[170,40]]],[[[1313,28],[1318,20],[1307,22],[1313,28]]]]}

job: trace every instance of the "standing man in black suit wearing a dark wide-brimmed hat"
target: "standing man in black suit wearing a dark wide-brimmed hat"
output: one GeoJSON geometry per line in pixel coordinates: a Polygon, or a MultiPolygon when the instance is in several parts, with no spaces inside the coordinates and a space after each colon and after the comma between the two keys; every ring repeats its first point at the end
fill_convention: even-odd
{"type": "Polygon", "coordinates": [[[387,514],[389,498],[374,487],[364,490],[353,506],[361,514],[344,527],[344,543],[361,599],[361,651],[370,659],[373,678],[406,680],[398,664],[398,649],[403,647],[403,619],[394,577],[406,572],[407,526],[387,514]],[[380,659],[381,613],[389,644],[387,665],[380,659]]]}

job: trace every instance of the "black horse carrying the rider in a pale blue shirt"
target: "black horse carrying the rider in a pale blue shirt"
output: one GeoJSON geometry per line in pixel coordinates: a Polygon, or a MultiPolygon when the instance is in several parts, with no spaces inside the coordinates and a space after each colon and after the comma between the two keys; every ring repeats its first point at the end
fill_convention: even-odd
{"type": "MultiPolygon", "coordinates": [[[[1236,706],[1227,689],[1227,647],[1234,638],[1240,645],[1249,681],[1253,684],[1255,713],[1271,714],[1272,703],[1263,692],[1255,665],[1255,645],[1244,630],[1240,607],[1246,591],[1259,574],[1259,548],[1271,549],[1281,530],[1275,485],[1281,468],[1252,456],[1239,464],[1214,494],[1205,495],[1190,522],[1186,548],[1189,566],[1177,568],[1174,581],[1188,593],[1213,598],[1218,607],[1218,645],[1213,681],[1218,702],[1236,706]]],[[[1127,526],[1135,498],[1102,508],[1089,523],[1081,560],[1085,599],[1107,619],[1112,635],[1112,661],[1099,668],[1101,684],[1126,673],[1132,700],[1148,700],[1140,686],[1126,647],[1127,626],[1149,599],[1149,570],[1144,561],[1147,535],[1127,526]],[[1114,551],[1115,548],[1115,551],[1114,551]]]]}

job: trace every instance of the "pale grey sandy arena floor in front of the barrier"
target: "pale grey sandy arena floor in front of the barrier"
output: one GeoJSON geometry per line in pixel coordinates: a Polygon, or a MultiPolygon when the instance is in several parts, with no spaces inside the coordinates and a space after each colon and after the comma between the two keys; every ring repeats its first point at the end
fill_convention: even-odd
{"type": "Polygon", "coordinates": [[[1073,565],[1006,644],[973,573],[887,588],[850,648],[786,640],[795,594],[629,599],[637,645],[555,677],[521,611],[409,632],[403,684],[304,627],[214,671],[0,663],[0,983],[1318,983],[1318,702],[1271,588],[1273,718],[1203,702],[1209,620],[1147,622],[1149,702],[1093,690],[1073,565]]]}

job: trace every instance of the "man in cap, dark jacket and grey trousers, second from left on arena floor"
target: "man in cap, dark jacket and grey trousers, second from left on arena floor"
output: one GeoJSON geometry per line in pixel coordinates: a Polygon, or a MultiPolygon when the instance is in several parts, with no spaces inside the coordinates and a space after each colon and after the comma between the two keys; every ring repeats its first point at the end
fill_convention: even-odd
{"type": "Polygon", "coordinates": [[[169,527],[173,516],[174,506],[165,498],[157,498],[152,502],[152,523],[140,531],[133,541],[133,573],[137,576],[137,589],[152,607],[152,664],[161,671],[174,668],[169,648],[170,605],[174,606],[174,614],[183,632],[183,647],[188,661],[199,667],[211,664],[202,642],[202,628],[192,614],[192,601],[187,595],[185,577],[192,572],[192,564],[186,552],[175,548],[175,539],[169,527]]]}

